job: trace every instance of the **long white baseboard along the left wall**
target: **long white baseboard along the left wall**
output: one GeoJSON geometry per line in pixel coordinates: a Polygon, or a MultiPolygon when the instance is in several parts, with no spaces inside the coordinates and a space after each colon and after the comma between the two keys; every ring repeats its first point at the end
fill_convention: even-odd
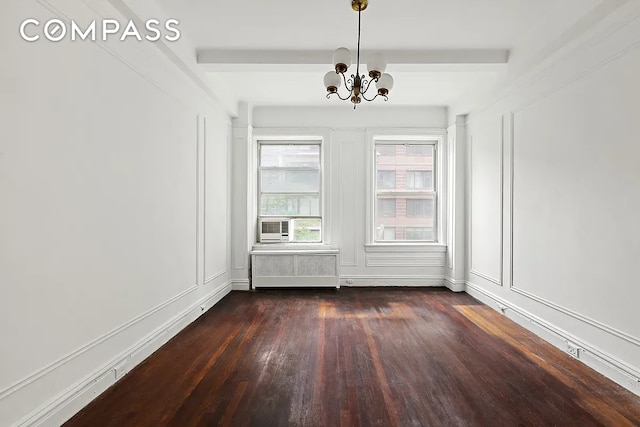
{"type": "Polygon", "coordinates": [[[155,329],[106,365],[98,368],[94,373],[78,381],[75,385],[27,415],[15,426],[62,425],[191,322],[208,311],[229,292],[231,292],[231,282],[218,286],[207,296],[191,304],[187,309],[155,329]]]}

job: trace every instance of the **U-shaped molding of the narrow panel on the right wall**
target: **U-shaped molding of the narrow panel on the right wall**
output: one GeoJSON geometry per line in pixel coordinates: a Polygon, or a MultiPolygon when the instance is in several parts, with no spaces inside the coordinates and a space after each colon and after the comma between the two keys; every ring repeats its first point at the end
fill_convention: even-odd
{"type": "Polygon", "coordinates": [[[469,137],[469,274],[503,286],[504,283],[504,115],[500,116],[500,275],[496,279],[479,272],[473,267],[473,137],[469,137]]]}

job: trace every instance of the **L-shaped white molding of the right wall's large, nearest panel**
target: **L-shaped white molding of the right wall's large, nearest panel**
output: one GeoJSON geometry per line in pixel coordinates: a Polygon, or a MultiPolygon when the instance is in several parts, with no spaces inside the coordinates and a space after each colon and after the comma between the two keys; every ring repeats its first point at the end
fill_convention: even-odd
{"type": "MultiPolygon", "coordinates": [[[[640,45],[639,45],[640,46],[640,45]]],[[[591,325],[597,329],[600,329],[601,331],[607,332],[611,335],[614,335],[618,338],[621,338],[629,343],[635,344],[637,346],[640,346],[640,338],[638,337],[634,337],[631,334],[628,334],[626,332],[622,332],[616,328],[613,328],[605,323],[599,322],[593,318],[590,318],[588,316],[582,315],[576,311],[570,310],[566,307],[563,307],[559,304],[556,304],[546,298],[537,296],[531,292],[528,292],[524,289],[519,288],[516,283],[515,283],[515,276],[514,276],[514,239],[515,239],[515,232],[514,232],[514,228],[513,228],[513,224],[514,224],[514,199],[515,199],[515,111],[511,112],[511,142],[510,142],[510,148],[511,148],[511,155],[509,156],[510,159],[510,170],[511,170],[511,174],[510,174],[510,206],[509,206],[509,221],[510,221],[510,284],[509,284],[509,289],[517,294],[520,294],[526,298],[529,298],[533,301],[536,301],[542,305],[545,305],[549,308],[552,308],[556,311],[559,311],[563,314],[566,314],[574,319],[580,320],[583,323],[586,323],[588,325],[591,325]]]]}

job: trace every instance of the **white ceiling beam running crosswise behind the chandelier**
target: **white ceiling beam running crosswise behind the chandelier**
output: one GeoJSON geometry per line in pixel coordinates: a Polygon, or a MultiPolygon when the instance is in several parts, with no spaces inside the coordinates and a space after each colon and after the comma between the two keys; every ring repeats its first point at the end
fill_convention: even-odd
{"type": "MultiPolygon", "coordinates": [[[[508,49],[433,49],[381,51],[396,71],[443,68],[493,71],[509,62],[508,49]]],[[[202,49],[198,64],[207,71],[300,70],[330,68],[333,51],[202,49]]],[[[366,63],[367,52],[362,52],[366,63]]]]}

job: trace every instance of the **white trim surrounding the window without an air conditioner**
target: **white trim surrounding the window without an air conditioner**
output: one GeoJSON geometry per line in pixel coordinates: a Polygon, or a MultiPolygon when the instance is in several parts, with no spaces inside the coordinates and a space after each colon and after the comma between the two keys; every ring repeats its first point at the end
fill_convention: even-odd
{"type": "MultiPolygon", "coordinates": [[[[367,210],[366,210],[366,244],[365,248],[388,247],[399,249],[402,247],[436,247],[446,245],[446,129],[406,128],[385,129],[367,131],[367,210]],[[376,209],[376,144],[405,143],[420,144],[429,141],[434,146],[435,163],[433,173],[434,201],[434,228],[435,239],[433,241],[377,241],[375,233],[375,209],[376,209]]],[[[412,190],[409,190],[410,193],[412,190]]]]}

